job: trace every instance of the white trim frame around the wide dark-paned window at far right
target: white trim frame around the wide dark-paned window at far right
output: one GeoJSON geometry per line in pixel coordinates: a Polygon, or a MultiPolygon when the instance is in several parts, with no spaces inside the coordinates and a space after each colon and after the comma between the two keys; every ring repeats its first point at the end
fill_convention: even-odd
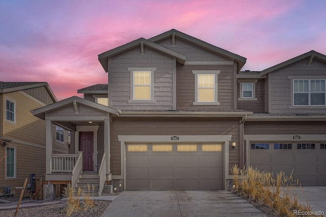
{"type": "MultiPolygon", "coordinates": [[[[288,76],[288,79],[290,79],[290,89],[291,89],[291,97],[290,97],[290,106],[289,108],[325,108],[326,105],[294,105],[294,80],[309,80],[308,83],[310,83],[310,80],[323,80],[326,79],[326,77],[324,75],[312,75],[312,76],[288,76]]],[[[325,80],[326,82],[326,80],[325,80]]],[[[310,84],[309,84],[309,88],[310,88],[310,84]]],[[[309,90],[310,91],[310,90],[309,90]]],[[[326,94],[325,94],[326,97],[326,94]]],[[[309,99],[310,100],[310,97],[309,99]]],[[[325,103],[326,103],[326,99],[325,99],[325,103]]]]}

